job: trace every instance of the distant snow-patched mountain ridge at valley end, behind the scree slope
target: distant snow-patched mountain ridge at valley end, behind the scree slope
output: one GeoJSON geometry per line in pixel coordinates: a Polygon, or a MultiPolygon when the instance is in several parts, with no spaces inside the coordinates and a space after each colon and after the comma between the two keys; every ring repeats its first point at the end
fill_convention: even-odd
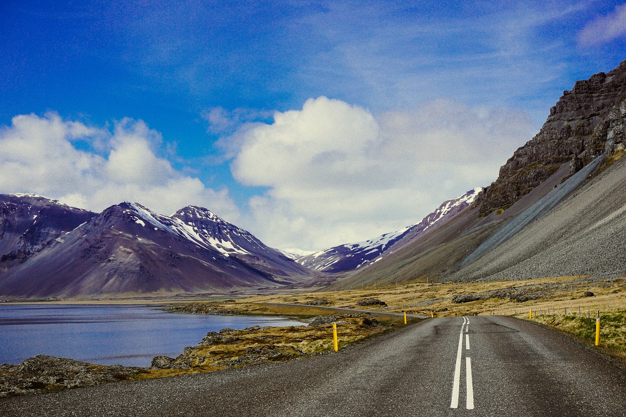
{"type": "Polygon", "coordinates": [[[482,190],[481,187],[474,188],[459,197],[444,201],[438,209],[424,217],[418,224],[364,242],[324,249],[300,257],[297,261],[309,269],[320,272],[343,272],[372,264],[469,207],[482,190]]]}

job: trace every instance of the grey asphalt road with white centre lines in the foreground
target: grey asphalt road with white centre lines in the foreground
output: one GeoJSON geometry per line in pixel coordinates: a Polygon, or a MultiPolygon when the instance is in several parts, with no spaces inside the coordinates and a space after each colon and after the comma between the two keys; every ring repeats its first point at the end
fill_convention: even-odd
{"type": "Polygon", "coordinates": [[[626,416],[626,370],[532,323],[446,317],[289,363],[0,399],[0,416],[466,415],[626,416]]]}

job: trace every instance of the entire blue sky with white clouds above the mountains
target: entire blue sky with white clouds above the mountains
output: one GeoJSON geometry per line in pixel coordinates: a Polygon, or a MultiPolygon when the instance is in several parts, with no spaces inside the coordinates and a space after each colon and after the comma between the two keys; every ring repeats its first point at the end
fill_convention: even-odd
{"type": "Polygon", "coordinates": [[[5,0],[0,192],[369,239],[495,180],[625,41],[613,1],[5,0]]]}

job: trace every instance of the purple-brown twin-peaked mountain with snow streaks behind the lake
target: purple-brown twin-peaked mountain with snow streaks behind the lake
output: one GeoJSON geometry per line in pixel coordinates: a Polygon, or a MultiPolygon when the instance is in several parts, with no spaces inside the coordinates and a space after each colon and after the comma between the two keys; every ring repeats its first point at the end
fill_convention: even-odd
{"type": "Polygon", "coordinates": [[[309,270],[201,207],[120,203],[0,274],[3,297],[110,297],[281,287],[309,270]]]}

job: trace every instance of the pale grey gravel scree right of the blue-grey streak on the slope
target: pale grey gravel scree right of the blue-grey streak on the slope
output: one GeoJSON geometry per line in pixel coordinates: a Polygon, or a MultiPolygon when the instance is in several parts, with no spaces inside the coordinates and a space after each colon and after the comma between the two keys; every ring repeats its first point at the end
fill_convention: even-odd
{"type": "Polygon", "coordinates": [[[622,276],[626,273],[624,212],[626,158],[451,279],[622,276]]]}

